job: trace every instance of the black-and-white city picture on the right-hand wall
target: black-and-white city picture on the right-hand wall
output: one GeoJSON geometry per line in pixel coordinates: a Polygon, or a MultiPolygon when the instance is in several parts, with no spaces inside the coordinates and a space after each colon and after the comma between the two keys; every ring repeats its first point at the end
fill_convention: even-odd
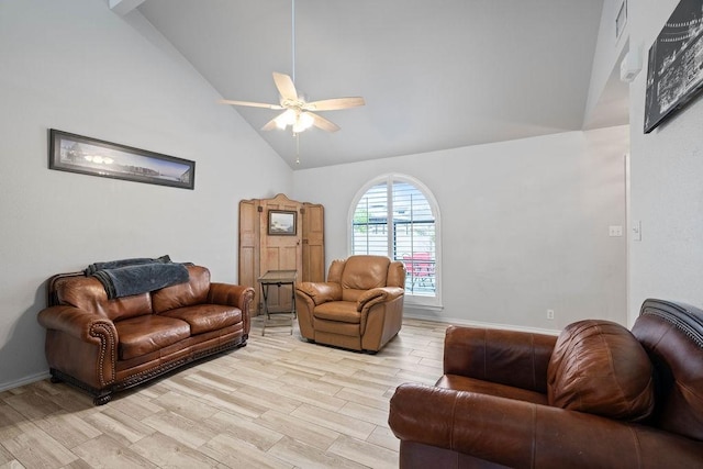
{"type": "Polygon", "coordinates": [[[649,48],[645,133],[703,90],[703,0],[681,0],[649,48]]]}

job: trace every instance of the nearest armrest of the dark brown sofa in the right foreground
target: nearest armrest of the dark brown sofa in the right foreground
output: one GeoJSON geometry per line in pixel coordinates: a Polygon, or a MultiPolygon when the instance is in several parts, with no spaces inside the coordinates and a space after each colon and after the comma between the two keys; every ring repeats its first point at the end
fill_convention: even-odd
{"type": "Polygon", "coordinates": [[[507,467],[700,467],[703,443],[638,424],[424,384],[390,402],[397,437],[507,467]]]}

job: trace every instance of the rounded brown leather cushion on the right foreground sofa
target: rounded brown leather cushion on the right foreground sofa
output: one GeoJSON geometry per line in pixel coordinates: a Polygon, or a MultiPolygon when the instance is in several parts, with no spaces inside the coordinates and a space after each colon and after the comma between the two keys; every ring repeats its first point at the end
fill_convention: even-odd
{"type": "Polygon", "coordinates": [[[652,368],[629,331],[602,320],[580,321],[559,335],[547,369],[549,404],[628,421],[654,409],[652,368]]]}

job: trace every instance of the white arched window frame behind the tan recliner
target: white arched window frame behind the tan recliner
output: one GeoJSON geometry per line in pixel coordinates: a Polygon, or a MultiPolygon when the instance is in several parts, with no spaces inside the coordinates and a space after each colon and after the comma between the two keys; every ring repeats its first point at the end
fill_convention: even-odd
{"type": "MultiPolygon", "coordinates": [[[[375,186],[380,183],[386,183],[388,187],[388,206],[392,213],[393,204],[392,204],[392,185],[393,182],[405,182],[414,186],[427,200],[429,208],[432,210],[432,214],[435,219],[435,295],[416,295],[406,292],[405,293],[405,305],[408,306],[417,306],[420,309],[425,310],[442,310],[442,219],[439,213],[439,205],[437,204],[437,200],[435,199],[432,191],[420,180],[412,176],[401,175],[401,174],[387,174],[378,176],[366,185],[364,185],[355,194],[352,200],[352,205],[349,206],[349,213],[347,214],[347,250],[349,255],[354,253],[354,215],[356,213],[357,205],[359,201],[366,193],[375,186]]],[[[391,233],[389,232],[389,252],[388,256],[394,258],[394,253],[392,253],[392,239],[391,233]]],[[[402,260],[402,259],[398,259],[402,260]]]]}

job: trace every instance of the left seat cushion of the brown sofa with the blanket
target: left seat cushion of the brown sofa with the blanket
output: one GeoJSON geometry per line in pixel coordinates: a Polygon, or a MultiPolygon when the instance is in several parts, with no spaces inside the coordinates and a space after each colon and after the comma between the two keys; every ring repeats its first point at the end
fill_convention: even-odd
{"type": "Polygon", "coordinates": [[[114,323],[120,338],[119,358],[129,360],[190,337],[187,322],[148,314],[114,323]]]}

